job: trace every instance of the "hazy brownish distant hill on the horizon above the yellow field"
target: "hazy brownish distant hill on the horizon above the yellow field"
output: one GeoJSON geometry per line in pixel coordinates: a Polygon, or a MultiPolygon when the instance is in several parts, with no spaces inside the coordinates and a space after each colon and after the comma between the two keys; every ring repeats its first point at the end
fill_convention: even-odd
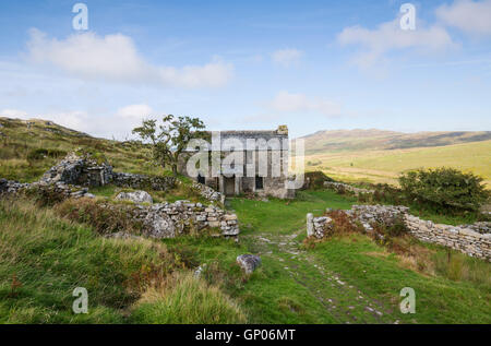
{"type": "Polygon", "coordinates": [[[384,130],[318,131],[302,136],[306,153],[322,154],[343,151],[384,151],[430,147],[491,140],[491,131],[448,131],[404,133],[384,130]]]}

